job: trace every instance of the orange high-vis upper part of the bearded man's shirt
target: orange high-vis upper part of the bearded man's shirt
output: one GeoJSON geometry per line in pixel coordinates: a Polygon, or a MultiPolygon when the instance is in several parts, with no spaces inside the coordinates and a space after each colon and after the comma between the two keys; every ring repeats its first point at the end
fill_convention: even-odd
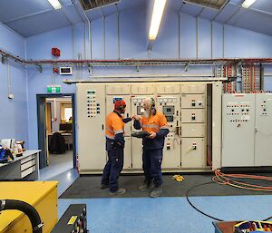
{"type": "Polygon", "coordinates": [[[151,115],[150,118],[141,117],[141,128],[143,131],[158,132],[161,129],[169,129],[169,125],[163,113],[156,112],[156,114],[151,115]]]}

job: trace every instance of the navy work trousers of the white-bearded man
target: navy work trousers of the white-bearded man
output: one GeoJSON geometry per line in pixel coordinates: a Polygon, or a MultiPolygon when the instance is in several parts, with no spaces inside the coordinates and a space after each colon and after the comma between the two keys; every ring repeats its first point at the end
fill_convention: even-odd
{"type": "Polygon", "coordinates": [[[145,182],[154,182],[156,187],[162,184],[161,174],[162,149],[142,150],[142,170],[145,182]]]}

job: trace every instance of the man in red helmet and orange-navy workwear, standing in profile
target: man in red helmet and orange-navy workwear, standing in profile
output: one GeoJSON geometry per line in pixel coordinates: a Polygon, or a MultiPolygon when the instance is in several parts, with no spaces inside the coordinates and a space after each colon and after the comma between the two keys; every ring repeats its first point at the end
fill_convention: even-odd
{"type": "Polygon", "coordinates": [[[110,187],[110,195],[124,194],[126,189],[120,189],[118,178],[123,166],[124,149],[124,125],[131,121],[131,118],[123,119],[121,114],[125,112],[126,103],[117,100],[114,103],[114,111],[106,117],[106,150],[108,161],[102,174],[101,188],[110,187]]]}

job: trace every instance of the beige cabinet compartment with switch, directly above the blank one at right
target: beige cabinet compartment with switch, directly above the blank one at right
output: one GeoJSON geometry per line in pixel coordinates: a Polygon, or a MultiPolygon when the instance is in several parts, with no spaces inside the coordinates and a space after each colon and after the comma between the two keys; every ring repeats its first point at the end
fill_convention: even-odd
{"type": "Polygon", "coordinates": [[[206,119],[205,109],[182,109],[181,122],[182,123],[203,123],[206,119]]]}

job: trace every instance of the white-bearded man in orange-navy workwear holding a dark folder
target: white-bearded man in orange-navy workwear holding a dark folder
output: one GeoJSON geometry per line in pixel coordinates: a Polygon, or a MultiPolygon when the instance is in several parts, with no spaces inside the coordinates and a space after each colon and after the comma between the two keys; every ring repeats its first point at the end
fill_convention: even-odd
{"type": "Polygon", "coordinates": [[[151,198],[160,196],[162,192],[162,150],[164,139],[169,133],[169,125],[162,112],[155,109],[155,101],[148,98],[142,105],[144,114],[142,117],[134,116],[134,128],[136,130],[148,131],[150,136],[142,139],[142,169],[145,180],[140,190],[155,188],[151,191],[151,198]]]}

